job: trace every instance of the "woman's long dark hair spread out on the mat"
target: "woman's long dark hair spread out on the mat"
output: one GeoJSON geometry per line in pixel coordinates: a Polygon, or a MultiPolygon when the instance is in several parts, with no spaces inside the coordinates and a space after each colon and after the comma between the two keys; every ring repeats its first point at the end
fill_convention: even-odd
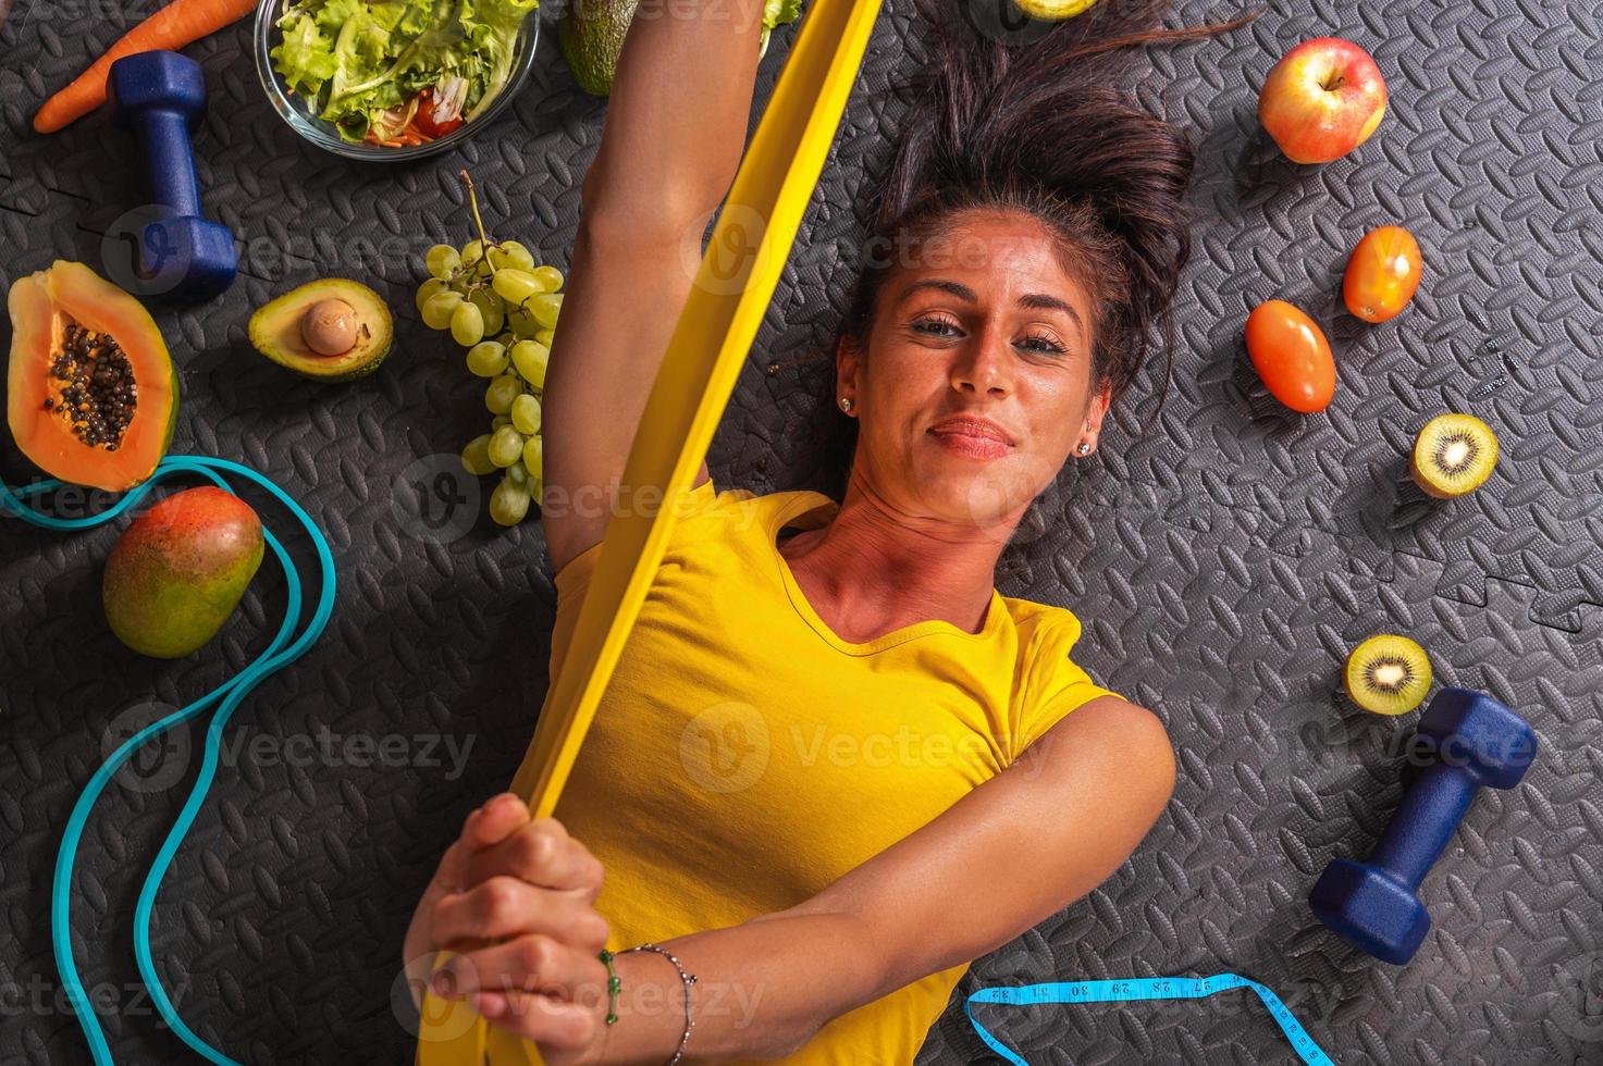
{"type": "MultiPolygon", "coordinates": [[[[1181,128],[1140,107],[1124,83],[1135,46],[1210,37],[1257,13],[1162,29],[1170,0],[1100,0],[1020,40],[1023,32],[986,32],[975,19],[986,3],[1005,2],[915,0],[928,59],[909,83],[911,101],[869,205],[866,247],[928,247],[975,208],[1032,215],[1058,236],[1064,269],[1090,287],[1095,385],[1122,394],[1157,332],[1167,393],[1169,308],[1191,253],[1185,199],[1193,152],[1181,128]]],[[[859,351],[869,349],[890,274],[867,264],[851,295],[840,338],[859,351]]],[[[834,377],[830,370],[826,382],[829,410],[834,377]]],[[[834,425],[822,458],[838,497],[858,423],[838,410],[826,420],[834,425]]]]}

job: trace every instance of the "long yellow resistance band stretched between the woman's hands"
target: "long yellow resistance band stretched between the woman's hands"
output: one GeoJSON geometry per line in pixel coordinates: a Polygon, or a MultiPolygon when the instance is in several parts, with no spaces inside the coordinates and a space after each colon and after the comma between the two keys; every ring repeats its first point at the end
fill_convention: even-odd
{"type": "MultiPolygon", "coordinates": [[[[729,189],[624,466],[630,499],[649,499],[640,492],[649,486],[660,489],[664,505],[651,515],[619,510],[608,523],[563,670],[535,725],[540,777],[529,800],[535,818],[556,810],[662,563],[678,518],[675,502],[712,446],[824,170],[878,10],[880,0],[813,0],[729,189]],[[731,252],[739,255],[734,263],[731,252]]],[[[487,1024],[465,1002],[425,994],[417,1064],[484,1066],[487,1024]]]]}

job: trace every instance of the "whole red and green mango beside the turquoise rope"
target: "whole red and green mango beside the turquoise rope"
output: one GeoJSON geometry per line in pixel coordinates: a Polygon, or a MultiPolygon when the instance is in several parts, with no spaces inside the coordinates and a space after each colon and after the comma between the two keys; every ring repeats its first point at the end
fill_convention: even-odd
{"type": "Polygon", "coordinates": [[[106,558],[111,632],[155,659],[204,648],[239,606],[263,547],[261,519],[232,492],[204,486],[167,497],[106,558]]]}

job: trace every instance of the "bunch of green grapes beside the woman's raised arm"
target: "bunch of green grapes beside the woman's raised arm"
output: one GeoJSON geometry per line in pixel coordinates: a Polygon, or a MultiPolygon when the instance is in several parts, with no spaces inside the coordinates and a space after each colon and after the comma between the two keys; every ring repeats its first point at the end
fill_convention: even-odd
{"type": "Polygon", "coordinates": [[[540,499],[540,398],[563,309],[563,273],[535,266],[516,240],[436,244],[425,264],[430,277],[417,290],[423,322],[449,330],[468,349],[468,372],[489,382],[491,431],[462,449],[462,465],[476,476],[502,474],[491,518],[516,526],[540,499]]]}

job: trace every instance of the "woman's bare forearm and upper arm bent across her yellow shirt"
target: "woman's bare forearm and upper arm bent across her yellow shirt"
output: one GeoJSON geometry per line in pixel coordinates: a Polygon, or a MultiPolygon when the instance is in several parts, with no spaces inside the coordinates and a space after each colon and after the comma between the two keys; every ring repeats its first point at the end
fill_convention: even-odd
{"type": "MultiPolygon", "coordinates": [[[[709,1061],[789,1053],[834,1018],[1007,944],[1119,869],[1173,782],[1173,752],[1151,712],[1111,696],[1085,704],[813,899],[664,941],[697,975],[686,1052],[709,1061]]],[[[617,963],[625,999],[657,984],[659,1007],[611,1028],[595,1061],[672,1053],[678,975],[649,954],[617,963]]]]}

